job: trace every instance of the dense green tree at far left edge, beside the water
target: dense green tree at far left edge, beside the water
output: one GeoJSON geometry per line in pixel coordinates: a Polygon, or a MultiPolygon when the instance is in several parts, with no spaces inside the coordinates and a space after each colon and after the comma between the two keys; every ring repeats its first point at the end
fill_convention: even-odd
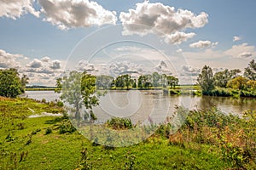
{"type": "Polygon", "coordinates": [[[16,69],[0,70],[0,95],[16,98],[24,92],[16,69]]]}

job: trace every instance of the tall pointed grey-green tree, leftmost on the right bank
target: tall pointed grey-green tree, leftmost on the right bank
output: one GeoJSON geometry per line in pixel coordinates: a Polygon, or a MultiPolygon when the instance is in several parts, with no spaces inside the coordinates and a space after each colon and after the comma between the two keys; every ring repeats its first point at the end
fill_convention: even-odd
{"type": "Polygon", "coordinates": [[[201,86],[202,94],[211,94],[214,88],[214,80],[210,66],[205,65],[203,67],[201,74],[197,77],[197,82],[201,86]]]}

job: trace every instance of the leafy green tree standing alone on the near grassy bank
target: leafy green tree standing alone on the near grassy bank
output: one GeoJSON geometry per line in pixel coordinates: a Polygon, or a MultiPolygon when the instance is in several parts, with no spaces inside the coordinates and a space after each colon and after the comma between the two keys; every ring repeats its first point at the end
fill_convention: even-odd
{"type": "MultiPolygon", "coordinates": [[[[90,109],[92,116],[92,107],[98,105],[95,76],[86,72],[71,71],[68,76],[58,78],[56,85],[61,88],[61,99],[74,106],[76,119],[81,119],[80,110],[83,104],[86,109],[90,109]]],[[[88,117],[88,113],[84,116],[88,117]]]]}

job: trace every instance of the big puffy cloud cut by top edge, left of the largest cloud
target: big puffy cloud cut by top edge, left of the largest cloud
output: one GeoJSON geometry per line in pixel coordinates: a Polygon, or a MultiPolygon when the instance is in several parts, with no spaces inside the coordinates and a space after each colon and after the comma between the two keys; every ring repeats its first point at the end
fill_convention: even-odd
{"type": "Polygon", "coordinates": [[[74,27],[114,25],[116,12],[102,8],[96,2],[88,0],[38,0],[41,12],[45,14],[45,21],[50,22],[59,29],[65,30],[74,27]]]}

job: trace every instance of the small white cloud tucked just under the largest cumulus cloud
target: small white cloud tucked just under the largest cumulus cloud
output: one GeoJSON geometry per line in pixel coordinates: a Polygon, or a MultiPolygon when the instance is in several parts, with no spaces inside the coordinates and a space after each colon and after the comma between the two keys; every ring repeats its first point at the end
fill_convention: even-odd
{"type": "Polygon", "coordinates": [[[171,35],[165,37],[165,42],[170,44],[180,44],[182,42],[186,42],[189,38],[195,36],[194,32],[185,33],[181,31],[177,31],[171,35]]]}

